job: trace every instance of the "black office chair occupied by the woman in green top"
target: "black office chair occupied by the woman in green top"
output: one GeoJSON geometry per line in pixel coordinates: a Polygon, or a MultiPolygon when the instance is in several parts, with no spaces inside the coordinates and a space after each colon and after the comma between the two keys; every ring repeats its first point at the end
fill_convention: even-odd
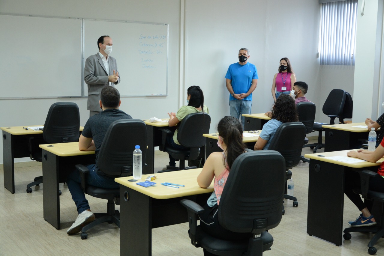
{"type": "Polygon", "coordinates": [[[209,127],[211,124],[211,117],[207,113],[199,112],[186,116],[178,125],[177,141],[180,145],[187,147],[188,149],[174,149],[170,147],[166,141],[167,136],[172,136],[170,129],[162,130],[162,143],[159,146],[161,151],[169,153],[174,159],[180,160],[179,168],[172,168],[170,170],[164,170],[159,172],[169,172],[174,170],[185,170],[186,160],[195,160],[199,157],[200,147],[205,146],[206,139],[203,134],[209,133],[209,127]]]}

